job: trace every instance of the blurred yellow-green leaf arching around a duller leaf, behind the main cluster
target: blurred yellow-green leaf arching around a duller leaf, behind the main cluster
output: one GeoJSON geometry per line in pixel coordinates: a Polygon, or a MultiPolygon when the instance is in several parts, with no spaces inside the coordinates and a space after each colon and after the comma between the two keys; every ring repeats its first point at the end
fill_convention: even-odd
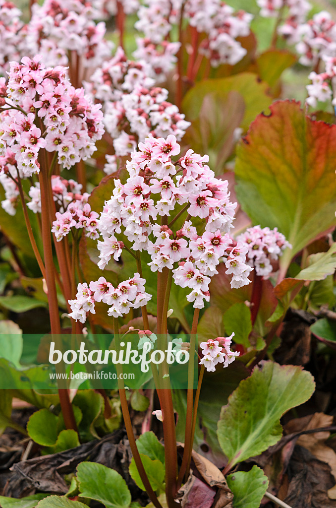
{"type": "Polygon", "coordinates": [[[258,113],[266,109],[272,102],[267,96],[267,84],[260,82],[256,74],[243,72],[236,76],[220,79],[207,79],[196,83],[185,95],[182,109],[188,120],[198,118],[205,96],[211,92],[222,94],[229,91],[238,92],[245,102],[245,114],[241,127],[247,131],[251,121],[258,113]]]}

